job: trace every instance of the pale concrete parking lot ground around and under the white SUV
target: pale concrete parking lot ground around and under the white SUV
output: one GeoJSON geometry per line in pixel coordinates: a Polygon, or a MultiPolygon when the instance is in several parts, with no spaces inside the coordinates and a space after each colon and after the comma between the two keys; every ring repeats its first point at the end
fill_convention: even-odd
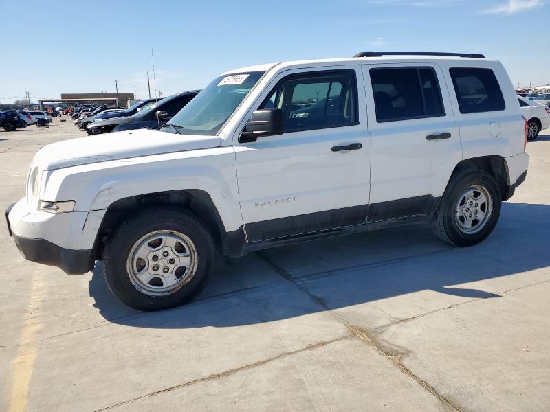
{"type": "MultiPolygon", "coordinates": [[[[0,207],[44,144],[0,131],[0,207]]],[[[114,138],[114,136],[113,136],[114,138]]],[[[192,303],[141,313],[26,262],[0,221],[0,411],[550,410],[550,133],[494,233],[423,226],[221,259],[192,303]]]]}

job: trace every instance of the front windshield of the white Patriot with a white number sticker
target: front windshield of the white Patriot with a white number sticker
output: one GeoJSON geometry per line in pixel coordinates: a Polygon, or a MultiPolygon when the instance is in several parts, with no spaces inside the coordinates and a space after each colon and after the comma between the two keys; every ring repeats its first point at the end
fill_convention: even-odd
{"type": "Polygon", "coordinates": [[[263,73],[252,71],[215,78],[168,123],[186,135],[215,135],[263,73]]]}

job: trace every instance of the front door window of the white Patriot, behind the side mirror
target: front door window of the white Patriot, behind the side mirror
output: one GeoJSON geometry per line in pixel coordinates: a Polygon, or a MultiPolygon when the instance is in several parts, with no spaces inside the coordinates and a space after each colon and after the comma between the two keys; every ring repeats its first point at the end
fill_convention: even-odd
{"type": "Polygon", "coordinates": [[[355,71],[289,76],[260,108],[281,108],[285,131],[349,126],[357,122],[355,71]]]}

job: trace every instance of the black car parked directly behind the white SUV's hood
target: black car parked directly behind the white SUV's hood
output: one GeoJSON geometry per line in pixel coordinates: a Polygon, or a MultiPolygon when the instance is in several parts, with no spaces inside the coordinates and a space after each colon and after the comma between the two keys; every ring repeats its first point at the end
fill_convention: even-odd
{"type": "Polygon", "coordinates": [[[99,133],[120,132],[138,128],[159,128],[170,120],[177,112],[184,108],[200,90],[184,91],[176,95],[168,96],[138,111],[130,117],[114,117],[113,119],[100,120],[87,126],[89,135],[99,133]]]}

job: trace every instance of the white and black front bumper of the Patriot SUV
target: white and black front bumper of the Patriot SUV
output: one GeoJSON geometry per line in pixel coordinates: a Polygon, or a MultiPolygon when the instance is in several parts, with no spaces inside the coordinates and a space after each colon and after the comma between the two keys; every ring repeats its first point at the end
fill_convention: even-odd
{"type": "Polygon", "coordinates": [[[23,198],[8,207],[5,217],[23,258],[57,266],[65,273],[81,274],[94,268],[94,244],[103,214],[30,210],[23,198]]]}

